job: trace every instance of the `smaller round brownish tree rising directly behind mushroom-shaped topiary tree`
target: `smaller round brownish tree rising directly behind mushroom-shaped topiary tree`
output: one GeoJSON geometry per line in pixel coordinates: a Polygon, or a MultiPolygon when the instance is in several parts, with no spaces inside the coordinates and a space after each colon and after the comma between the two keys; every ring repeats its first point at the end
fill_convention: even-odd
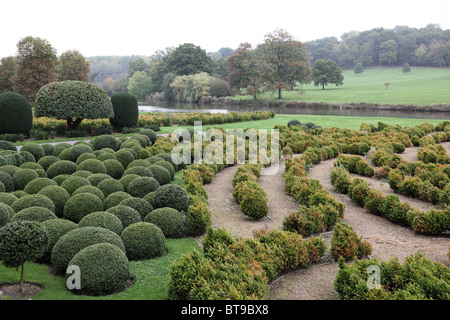
{"type": "Polygon", "coordinates": [[[58,81],[79,80],[89,82],[91,63],[77,50],[68,50],[59,58],[56,67],[58,81]]]}

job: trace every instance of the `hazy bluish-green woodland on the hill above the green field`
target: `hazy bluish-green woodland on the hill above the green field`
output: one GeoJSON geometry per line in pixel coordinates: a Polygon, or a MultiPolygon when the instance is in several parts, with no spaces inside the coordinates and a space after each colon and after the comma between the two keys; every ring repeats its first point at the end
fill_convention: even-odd
{"type": "Polygon", "coordinates": [[[364,66],[450,66],[450,30],[429,24],[425,28],[397,26],[375,28],[363,32],[348,32],[338,40],[326,37],[305,43],[313,64],[318,59],[330,59],[349,69],[357,63],[364,66]]]}

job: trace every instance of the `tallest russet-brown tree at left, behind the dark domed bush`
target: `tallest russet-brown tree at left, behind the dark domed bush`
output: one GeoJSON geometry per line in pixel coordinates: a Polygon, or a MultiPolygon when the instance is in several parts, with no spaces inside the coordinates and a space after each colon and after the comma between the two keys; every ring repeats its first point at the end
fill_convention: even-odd
{"type": "Polygon", "coordinates": [[[34,102],[39,89],[56,80],[56,50],[41,38],[26,37],[17,44],[17,72],[14,91],[34,102]]]}

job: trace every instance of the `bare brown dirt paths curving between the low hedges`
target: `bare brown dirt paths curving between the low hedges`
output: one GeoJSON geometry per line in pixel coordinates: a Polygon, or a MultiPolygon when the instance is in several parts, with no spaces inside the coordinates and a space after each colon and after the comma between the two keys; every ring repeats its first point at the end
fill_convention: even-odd
{"type": "MultiPolygon", "coordinates": [[[[450,142],[443,144],[450,154],[450,142]]],[[[417,161],[418,148],[407,148],[401,156],[408,161],[417,161]]],[[[331,185],[329,173],[333,169],[335,159],[322,161],[312,167],[308,178],[317,179],[322,186],[338,201],[346,205],[343,222],[350,224],[365,240],[372,244],[373,258],[389,260],[396,256],[402,261],[405,257],[422,252],[427,258],[450,266],[447,257],[450,237],[430,237],[416,234],[411,228],[396,225],[387,219],[370,214],[364,208],[356,205],[347,195],[337,193],[331,185]]],[[[223,227],[233,235],[251,237],[255,229],[281,229],[283,218],[298,208],[297,202],[284,191],[282,173],[284,164],[273,176],[262,176],[259,183],[269,197],[269,218],[254,220],[244,216],[239,210],[239,204],[232,196],[234,171],[237,166],[228,167],[219,172],[213,181],[205,185],[209,197],[212,214],[212,226],[223,227]]],[[[393,193],[386,182],[365,178],[369,185],[384,194],[393,193]]],[[[401,196],[401,201],[407,201],[413,207],[428,210],[431,204],[401,196]]],[[[332,232],[322,234],[329,248],[332,232]]],[[[325,256],[308,269],[299,269],[283,275],[270,284],[269,300],[335,300],[338,299],[334,290],[334,279],[338,273],[338,265],[333,261],[329,250],[325,256]]]]}

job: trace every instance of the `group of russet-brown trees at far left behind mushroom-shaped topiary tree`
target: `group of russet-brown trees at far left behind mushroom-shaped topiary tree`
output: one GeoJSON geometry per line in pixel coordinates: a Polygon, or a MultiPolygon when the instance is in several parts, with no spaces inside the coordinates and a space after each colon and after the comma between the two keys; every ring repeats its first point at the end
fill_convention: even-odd
{"type": "Polygon", "coordinates": [[[78,51],[60,57],[51,44],[41,38],[26,37],[17,44],[16,56],[0,60],[0,92],[15,91],[34,102],[36,93],[54,81],[88,82],[90,62],[78,51]]]}

